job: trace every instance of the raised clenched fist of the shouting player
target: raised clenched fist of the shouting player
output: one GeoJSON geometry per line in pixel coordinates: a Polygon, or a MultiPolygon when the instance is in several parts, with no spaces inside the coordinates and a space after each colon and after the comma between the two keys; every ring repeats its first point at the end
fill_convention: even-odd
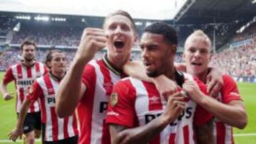
{"type": "Polygon", "coordinates": [[[80,45],[76,57],[91,60],[95,53],[105,48],[107,43],[107,34],[101,28],[85,28],[82,32],[80,45]]]}

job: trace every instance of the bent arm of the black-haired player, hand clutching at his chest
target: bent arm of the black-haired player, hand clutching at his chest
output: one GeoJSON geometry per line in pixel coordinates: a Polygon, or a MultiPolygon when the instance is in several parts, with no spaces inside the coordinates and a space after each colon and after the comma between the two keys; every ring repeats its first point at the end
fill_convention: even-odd
{"type": "Polygon", "coordinates": [[[110,123],[112,144],[149,143],[156,135],[172,123],[183,111],[185,102],[180,92],[169,96],[168,104],[161,116],[154,118],[144,126],[128,128],[116,123],[110,123]]]}

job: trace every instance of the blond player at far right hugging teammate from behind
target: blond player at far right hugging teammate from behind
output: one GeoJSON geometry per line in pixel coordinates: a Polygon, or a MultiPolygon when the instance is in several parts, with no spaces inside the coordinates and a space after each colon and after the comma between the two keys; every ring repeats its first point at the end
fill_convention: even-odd
{"type": "MultiPolygon", "coordinates": [[[[211,42],[203,31],[195,31],[188,36],[185,42],[183,60],[186,62],[186,70],[189,74],[206,83],[208,64],[210,62],[211,42]]],[[[215,115],[213,122],[214,142],[217,144],[234,143],[233,128],[245,128],[247,114],[242,102],[238,86],[229,75],[223,74],[223,87],[215,99],[203,96],[201,106],[215,115]],[[218,102],[220,101],[220,102],[218,102]]],[[[191,83],[189,89],[196,93],[198,89],[191,83]]],[[[198,136],[207,139],[207,131],[198,131],[198,136]]],[[[208,131],[210,132],[210,131],[208,131]]]]}

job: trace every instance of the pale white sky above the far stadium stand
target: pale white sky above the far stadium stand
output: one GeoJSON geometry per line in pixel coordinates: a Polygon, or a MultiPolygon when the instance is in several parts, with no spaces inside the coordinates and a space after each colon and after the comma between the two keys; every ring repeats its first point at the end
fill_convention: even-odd
{"type": "Polygon", "coordinates": [[[0,0],[0,11],[106,16],[123,9],[133,18],[171,20],[187,0],[0,0]]]}

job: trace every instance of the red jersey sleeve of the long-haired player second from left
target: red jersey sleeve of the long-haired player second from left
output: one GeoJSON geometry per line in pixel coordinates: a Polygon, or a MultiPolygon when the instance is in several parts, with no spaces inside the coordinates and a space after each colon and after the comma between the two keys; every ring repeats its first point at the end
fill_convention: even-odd
{"type": "Polygon", "coordinates": [[[41,89],[40,85],[37,81],[33,83],[33,85],[28,90],[28,96],[26,99],[32,104],[36,101],[40,96],[43,96],[43,89],[41,89]]]}

